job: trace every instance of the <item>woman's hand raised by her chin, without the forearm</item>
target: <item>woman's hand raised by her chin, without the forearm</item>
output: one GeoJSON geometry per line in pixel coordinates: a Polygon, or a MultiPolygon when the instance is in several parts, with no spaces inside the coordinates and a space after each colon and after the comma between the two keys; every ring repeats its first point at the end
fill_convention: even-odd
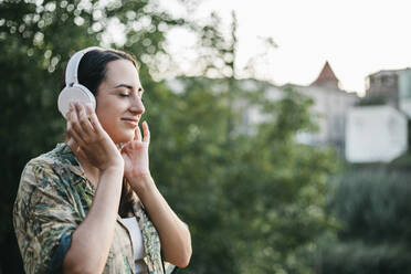
{"type": "Polygon", "coordinates": [[[150,176],[148,167],[148,146],[150,144],[150,131],[147,122],[143,123],[143,133],[136,128],[134,140],[122,148],[124,159],[124,176],[129,182],[136,178],[150,176]]]}

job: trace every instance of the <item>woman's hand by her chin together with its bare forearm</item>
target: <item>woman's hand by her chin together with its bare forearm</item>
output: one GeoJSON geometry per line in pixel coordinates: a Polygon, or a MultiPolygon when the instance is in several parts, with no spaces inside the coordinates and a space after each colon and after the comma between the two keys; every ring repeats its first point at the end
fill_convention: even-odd
{"type": "Polygon", "coordinates": [[[124,176],[151,217],[161,242],[165,260],[186,267],[191,257],[191,235],[188,226],[177,217],[158,191],[148,168],[150,133],[143,123],[143,133],[136,128],[134,140],[122,148],[124,176]]]}

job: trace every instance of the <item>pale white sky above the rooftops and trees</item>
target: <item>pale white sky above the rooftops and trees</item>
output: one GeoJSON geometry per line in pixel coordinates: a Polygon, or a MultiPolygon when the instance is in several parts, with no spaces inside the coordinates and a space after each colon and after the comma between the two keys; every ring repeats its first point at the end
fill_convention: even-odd
{"type": "MultiPolygon", "coordinates": [[[[175,0],[161,2],[176,14],[181,11],[175,0]]],[[[200,20],[217,11],[229,24],[232,10],[239,21],[239,64],[264,51],[259,38],[278,44],[257,67],[261,77],[276,84],[309,84],[328,60],[342,88],[363,93],[368,74],[411,67],[409,0],[203,0],[190,17],[200,20]]],[[[172,54],[188,54],[183,34],[169,40],[172,54]]]]}

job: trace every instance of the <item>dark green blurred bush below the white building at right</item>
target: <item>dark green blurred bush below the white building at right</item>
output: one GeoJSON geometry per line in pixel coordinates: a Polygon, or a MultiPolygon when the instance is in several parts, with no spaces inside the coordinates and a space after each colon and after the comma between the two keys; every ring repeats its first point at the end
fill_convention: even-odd
{"type": "Polygon", "coordinates": [[[318,273],[411,273],[411,183],[407,172],[359,169],[336,183],[340,223],[322,246],[318,273]]]}

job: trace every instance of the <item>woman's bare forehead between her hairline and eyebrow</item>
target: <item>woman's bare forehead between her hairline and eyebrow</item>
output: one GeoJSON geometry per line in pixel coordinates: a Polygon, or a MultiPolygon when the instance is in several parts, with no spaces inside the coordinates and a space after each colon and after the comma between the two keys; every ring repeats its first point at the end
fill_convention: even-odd
{"type": "Polygon", "coordinates": [[[131,61],[116,60],[107,64],[105,81],[107,84],[118,85],[127,84],[134,87],[140,87],[140,80],[137,68],[131,61]]]}

